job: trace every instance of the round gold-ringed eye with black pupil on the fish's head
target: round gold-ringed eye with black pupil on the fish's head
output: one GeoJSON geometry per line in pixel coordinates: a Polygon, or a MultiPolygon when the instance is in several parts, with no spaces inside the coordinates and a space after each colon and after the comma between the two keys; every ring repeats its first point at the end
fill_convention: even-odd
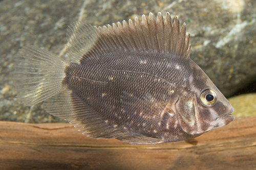
{"type": "Polygon", "coordinates": [[[217,94],[209,88],[204,89],[200,95],[200,102],[205,107],[214,106],[217,101],[217,94]]]}

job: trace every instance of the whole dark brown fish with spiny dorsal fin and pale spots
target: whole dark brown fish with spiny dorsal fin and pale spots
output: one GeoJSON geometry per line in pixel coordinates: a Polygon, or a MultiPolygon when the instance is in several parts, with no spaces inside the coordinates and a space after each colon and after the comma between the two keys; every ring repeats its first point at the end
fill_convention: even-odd
{"type": "Polygon", "coordinates": [[[234,109],[190,59],[190,33],[167,12],[67,29],[62,59],[35,46],[15,55],[17,99],[43,102],[88,137],[134,144],[186,140],[232,122],[234,109]]]}

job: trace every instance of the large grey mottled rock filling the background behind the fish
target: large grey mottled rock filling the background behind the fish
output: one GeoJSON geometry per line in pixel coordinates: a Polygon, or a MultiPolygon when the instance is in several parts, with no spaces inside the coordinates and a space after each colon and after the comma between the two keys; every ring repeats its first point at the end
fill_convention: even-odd
{"type": "Polygon", "coordinates": [[[67,57],[66,29],[72,21],[102,26],[158,11],[186,22],[191,59],[226,96],[256,82],[254,0],[4,0],[0,1],[0,120],[63,122],[46,113],[41,104],[26,107],[14,98],[11,72],[19,48],[35,45],[67,57]]]}

